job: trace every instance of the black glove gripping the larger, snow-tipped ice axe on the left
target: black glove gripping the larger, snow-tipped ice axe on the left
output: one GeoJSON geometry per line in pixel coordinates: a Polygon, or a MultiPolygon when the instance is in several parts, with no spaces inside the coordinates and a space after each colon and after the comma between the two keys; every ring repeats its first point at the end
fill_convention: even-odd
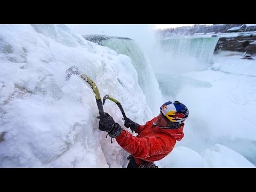
{"type": "Polygon", "coordinates": [[[105,117],[100,119],[99,122],[99,130],[108,132],[111,138],[116,138],[121,135],[123,128],[115,123],[113,117],[111,117],[108,113],[104,113],[105,117]]]}

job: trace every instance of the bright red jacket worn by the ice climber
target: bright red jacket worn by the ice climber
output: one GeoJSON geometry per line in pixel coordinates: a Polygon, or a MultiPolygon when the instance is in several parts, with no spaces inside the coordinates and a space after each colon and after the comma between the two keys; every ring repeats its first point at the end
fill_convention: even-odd
{"type": "Polygon", "coordinates": [[[154,117],[145,125],[140,125],[136,131],[137,137],[126,130],[116,137],[118,144],[135,157],[137,164],[142,163],[141,159],[147,162],[159,161],[171,153],[176,141],[184,137],[184,123],[178,129],[161,129],[153,127],[156,121],[157,117],[154,117]]]}

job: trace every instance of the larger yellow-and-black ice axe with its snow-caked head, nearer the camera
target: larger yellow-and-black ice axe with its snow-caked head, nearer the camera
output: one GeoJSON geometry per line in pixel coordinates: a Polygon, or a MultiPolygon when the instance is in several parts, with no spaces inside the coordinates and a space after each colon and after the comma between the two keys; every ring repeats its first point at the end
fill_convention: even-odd
{"type": "Polygon", "coordinates": [[[104,114],[103,105],[102,105],[102,101],[101,101],[101,98],[100,98],[100,92],[98,90],[97,85],[92,81],[92,79],[90,77],[83,74],[82,71],[79,70],[78,67],[76,67],[76,66],[69,67],[66,70],[65,81],[68,81],[71,75],[78,75],[80,78],[83,79],[84,82],[86,82],[87,84],[90,85],[90,87],[92,88],[93,93],[95,93],[95,98],[96,98],[96,102],[97,102],[97,106],[98,106],[99,114],[100,114],[99,118],[106,117],[106,115],[104,114]]]}

